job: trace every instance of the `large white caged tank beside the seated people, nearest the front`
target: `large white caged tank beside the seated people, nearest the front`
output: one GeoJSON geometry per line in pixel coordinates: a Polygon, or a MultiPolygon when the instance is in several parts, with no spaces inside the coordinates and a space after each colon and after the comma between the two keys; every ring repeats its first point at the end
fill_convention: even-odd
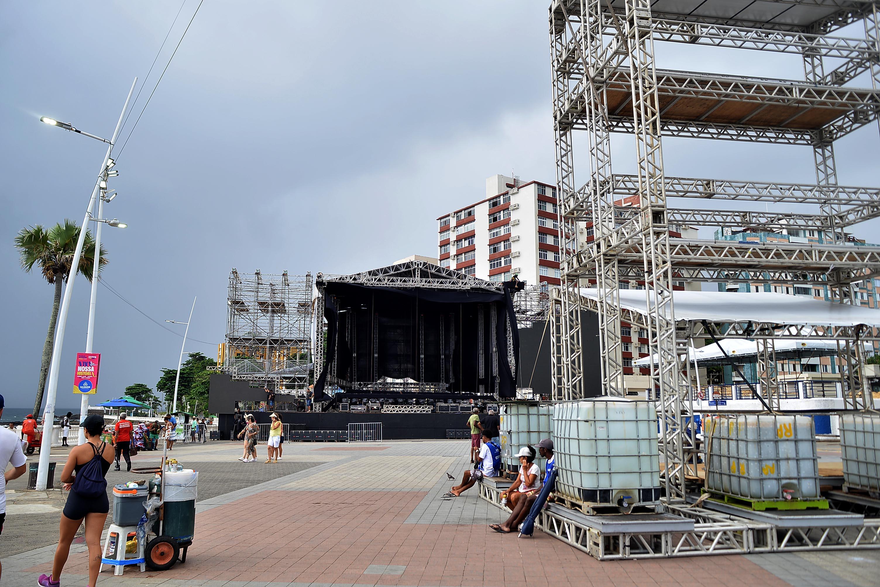
{"type": "Polygon", "coordinates": [[[653,402],[598,397],[554,405],[556,493],[582,504],[660,502],[660,456],[653,402]]]}

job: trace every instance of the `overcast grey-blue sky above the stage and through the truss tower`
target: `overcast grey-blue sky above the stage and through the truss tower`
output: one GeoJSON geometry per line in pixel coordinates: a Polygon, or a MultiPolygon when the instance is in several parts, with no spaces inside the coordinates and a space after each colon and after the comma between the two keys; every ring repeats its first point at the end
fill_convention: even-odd
{"type": "MultiPolygon", "coordinates": [[[[197,5],[184,5],[121,141],[197,5]]],[[[82,221],[105,150],[38,119],[110,136],[178,9],[179,0],[0,9],[7,406],[33,405],[52,304],[52,287],[20,269],[12,239],[33,224],[82,221]]],[[[554,181],[546,18],[546,3],[531,0],[332,8],[205,0],[119,156],[111,187],[120,196],[106,216],[129,228],[103,231],[104,279],[163,324],[185,321],[198,296],[190,335],[204,342],[187,350],[216,357],[231,267],[348,273],[433,256],[436,217],[482,199],[488,176],[554,181]]],[[[803,76],[792,56],[659,45],[657,53],[673,69],[803,76]]],[[[627,140],[613,146],[615,171],[631,172],[627,140]]],[[[877,185],[877,147],[876,124],[839,141],[840,183],[877,185]]],[[[585,170],[585,150],[578,155],[585,170]]],[[[815,181],[805,148],[664,140],[664,160],[671,175],[815,181]]],[[[870,239],[877,226],[855,233],[870,239]]],[[[70,390],[88,295],[77,279],[59,408],[78,405],[70,390]]],[[[176,366],[180,337],[104,287],[98,300],[98,399],[131,383],[154,387],[161,367],[176,366]]]]}

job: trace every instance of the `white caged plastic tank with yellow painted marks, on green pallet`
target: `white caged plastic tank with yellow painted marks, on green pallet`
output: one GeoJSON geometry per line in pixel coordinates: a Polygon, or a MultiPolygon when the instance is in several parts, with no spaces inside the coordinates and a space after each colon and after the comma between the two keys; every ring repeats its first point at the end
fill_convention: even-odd
{"type": "Polygon", "coordinates": [[[819,499],[809,416],[720,416],[704,424],[706,489],[754,501],[819,499]]]}

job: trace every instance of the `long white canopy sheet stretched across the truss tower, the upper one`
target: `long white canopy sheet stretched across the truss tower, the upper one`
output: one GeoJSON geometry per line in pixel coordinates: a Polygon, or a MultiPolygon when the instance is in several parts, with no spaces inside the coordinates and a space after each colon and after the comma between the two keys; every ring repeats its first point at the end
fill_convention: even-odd
{"type": "MultiPolygon", "coordinates": [[[[598,290],[581,288],[584,297],[598,300],[598,290]]],[[[621,289],[620,307],[648,315],[648,295],[654,290],[621,289]]],[[[676,320],[709,322],[775,322],[810,326],[880,327],[880,310],[798,295],[768,292],[686,292],[672,293],[676,320]]]]}

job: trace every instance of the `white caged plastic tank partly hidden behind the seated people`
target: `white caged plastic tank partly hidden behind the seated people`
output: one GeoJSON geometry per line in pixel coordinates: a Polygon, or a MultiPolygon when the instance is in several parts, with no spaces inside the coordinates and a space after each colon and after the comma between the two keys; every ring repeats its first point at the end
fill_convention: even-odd
{"type": "MultiPolygon", "coordinates": [[[[531,445],[537,451],[541,440],[551,438],[551,412],[549,404],[502,403],[501,455],[503,468],[510,475],[517,475],[519,470],[519,460],[513,455],[520,448],[531,445]]],[[[535,463],[544,470],[544,460],[538,455],[535,463]]]]}

